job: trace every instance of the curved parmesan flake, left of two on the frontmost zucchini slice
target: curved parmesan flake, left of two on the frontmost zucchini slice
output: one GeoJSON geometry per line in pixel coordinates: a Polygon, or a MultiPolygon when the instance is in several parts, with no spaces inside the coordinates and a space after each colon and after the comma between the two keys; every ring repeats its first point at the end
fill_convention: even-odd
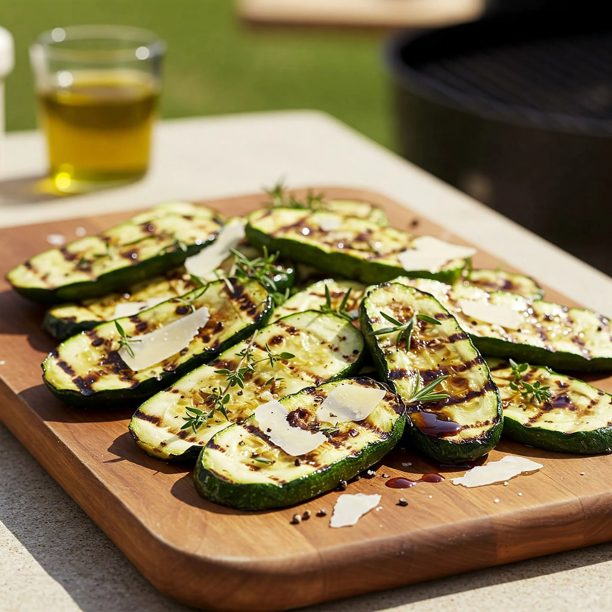
{"type": "Polygon", "coordinates": [[[259,429],[266,433],[273,444],[292,457],[309,453],[327,440],[319,431],[312,433],[300,427],[291,427],[288,416],[289,411],[278,400],[268,401],[255,408],[255,420],[259,429]]]}

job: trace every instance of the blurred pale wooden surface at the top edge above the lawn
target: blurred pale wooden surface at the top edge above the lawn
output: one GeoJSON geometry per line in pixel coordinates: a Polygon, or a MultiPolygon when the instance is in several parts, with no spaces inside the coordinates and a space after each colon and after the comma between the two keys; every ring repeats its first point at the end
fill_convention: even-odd
{"type": "Polygon", "coordinates": [[[484,0],[241,0],[239,15],[253,24],[437,28],[474,20],[484,0]]]}

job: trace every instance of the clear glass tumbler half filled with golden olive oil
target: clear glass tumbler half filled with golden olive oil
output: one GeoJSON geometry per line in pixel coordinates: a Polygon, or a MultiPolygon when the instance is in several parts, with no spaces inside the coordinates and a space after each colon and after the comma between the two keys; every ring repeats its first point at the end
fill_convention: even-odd
{"type": "Polygon", "coordinates": [[[153,32],[127,26],[55,28],[32,45],[39,123],[59,192],[144,176],[164,52],[153,32]]]}

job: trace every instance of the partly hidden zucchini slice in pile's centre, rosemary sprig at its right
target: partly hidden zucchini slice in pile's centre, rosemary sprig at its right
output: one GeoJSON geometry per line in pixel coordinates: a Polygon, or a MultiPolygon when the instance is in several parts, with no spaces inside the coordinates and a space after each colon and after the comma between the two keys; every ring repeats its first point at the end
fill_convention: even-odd
{"type": "Polygon", "coordinates": [[[321,306],[327,304],[326,286],[333,310],[338,310],[346,293],[350,291],[351,293],[349,293],[346,300],[345,310],[353,318],[359,316],[359,304],[361,304],[361,300],[364,298],[365,285],[354,280],[327,278],[326,280],[312,283],[312,285],[308,285],[302,291],[298,291],[298,293],[289,297],[284,304],[275,308],[271,320],[277,321],[277,319],[283,316],[293,315],[293,313],[303,312],[304,310],[319,310],[321,306]]]}

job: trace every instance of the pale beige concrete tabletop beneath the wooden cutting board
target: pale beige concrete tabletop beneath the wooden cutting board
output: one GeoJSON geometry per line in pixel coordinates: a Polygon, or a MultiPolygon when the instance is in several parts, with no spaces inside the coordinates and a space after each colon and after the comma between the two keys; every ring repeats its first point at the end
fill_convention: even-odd
{"type": "MultiPolygon", "coordinates": [[[[258,191],[339,185],[384,193],[589,307],[612,313],[612,279],[327,115],[312,111],[162,122],[152,168],[118,190],[48,199],[42,138],[7,136],[0,226],[258,191]]],[[[0,313],[2,316],[2,313],[0,313]]],[[[1,354],[0,363],[4,356],[1,354]]],[[[0,365],[1,367],[1,365],[0,365]]],[[[600,545],[308,608],[611,610],[612,545],[600,545]]],[[[0,425],[0,611],[178,611],[0,425]]]]}

